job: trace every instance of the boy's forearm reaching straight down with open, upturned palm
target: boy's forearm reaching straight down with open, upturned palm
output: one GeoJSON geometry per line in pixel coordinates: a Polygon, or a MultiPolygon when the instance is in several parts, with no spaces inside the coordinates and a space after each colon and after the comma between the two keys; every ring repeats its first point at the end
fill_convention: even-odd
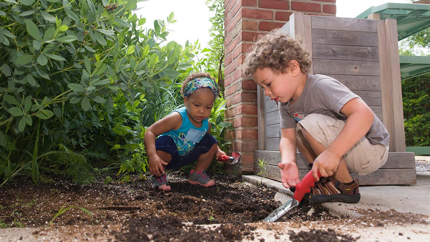
{"type": "Polygon", "coordinates": [[[296,129],[281,128],[281,141],[279,142],[279,151],[281,152],[281,163],[278,164],[281,168],[282,185],[286,188],[296,186],[299,182],[298,168],[296,164],[296,129]]]}

